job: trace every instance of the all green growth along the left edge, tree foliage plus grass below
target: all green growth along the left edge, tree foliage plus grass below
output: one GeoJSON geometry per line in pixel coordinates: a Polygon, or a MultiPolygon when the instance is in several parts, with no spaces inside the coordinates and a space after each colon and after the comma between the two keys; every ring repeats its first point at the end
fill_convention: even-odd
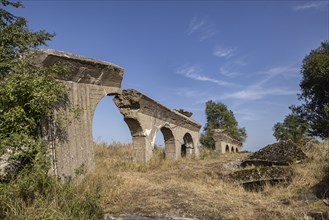
{"type": "Polygon", "coordinates": [[[33,65],[31,51],[53,34],[29,30],[24,18],[4,9],[21,3],[0,5],[0,160],[12,165],[10,175],[0,176],[0,219],[101,219],[99,190],[80,190],[48,174],[49,141],[63,138],[70,119],[63,112],[71,109],[56,78],[70,67],[33,65]]]}

